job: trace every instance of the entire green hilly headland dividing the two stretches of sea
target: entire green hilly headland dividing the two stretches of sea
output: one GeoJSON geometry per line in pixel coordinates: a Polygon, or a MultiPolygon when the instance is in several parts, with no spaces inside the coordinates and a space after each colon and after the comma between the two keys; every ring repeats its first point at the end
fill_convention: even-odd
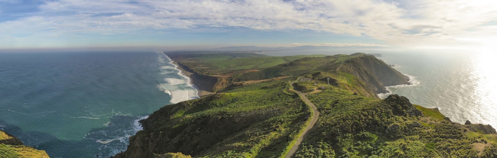
{"type": "MultiPolygon", "coordinates": [[[[239,57],[218,59],[256,63],[268,58],[250,53],[239,57]]],[[[184,61],[193,61],[171,58],[186,69],[184,61]]],[[[454,123],[437,109],[399,95],[379,99],[376,93],[385,91],[384,86],[408,84],[409,79],[372,55],[303,57],[243,69],[238,66],[247,63],[236,63],[228,69],[190,69],[204,77],[221,74],[200,70],[230,75],[217,93],[164,106],[142,120],[144,129],[115,158],[497,156],[497,134],[489,125],[454,123]],[[256,71],[247,71],[252,69],[256,71]],[[310,123],[313,116],[318,116],[316,124],[310,123]]]]}

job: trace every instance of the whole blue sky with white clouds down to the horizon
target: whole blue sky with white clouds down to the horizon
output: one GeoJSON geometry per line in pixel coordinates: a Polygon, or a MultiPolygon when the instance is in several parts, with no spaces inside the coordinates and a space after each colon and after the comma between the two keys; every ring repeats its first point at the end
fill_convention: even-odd
{"type": "Polygon", "coordinates": [[[0,49],[497,41],[497,0],[0,0],[0,49]]]}

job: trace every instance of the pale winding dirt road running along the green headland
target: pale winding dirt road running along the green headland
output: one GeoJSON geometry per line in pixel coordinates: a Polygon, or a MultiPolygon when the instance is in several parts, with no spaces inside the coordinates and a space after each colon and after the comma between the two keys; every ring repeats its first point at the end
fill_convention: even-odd
{"type": "MultiPolygon", "coordinates": [[[[290,85],[293,86],[293,83],[297,82],[299,79],[300,78],[298,78],[295,81],[290,82],[290,85]]],[[[302,133],[302,135],[300,135],[300,137],[297,139],[297,142],[295,142],[295,144],[293,145],[292,149],[290,149],[290,151],[286,154],[285,158],[293,158],[293,156],[295,155],[295,152],[297,152],[297,149],[299,149],[299,146],[302,143],[302,141],[304,140],[304,138],[307,137],[307,135],[309,135],[310,130],[314,127],[314,125],[316,124],[316,122],[318,122],[318,117],[319,117],[318,108],[316,108],[316,106],[306,97],[306,95],[308,93],[302,93],[302,92],[300,92],[298,90],[295,90],[295,87],[293,87],[293,89],[291,89],[291,90],[294,91],[294,92],[296,92],[297,94],[299,94],[300,98],[308,106],[311,107],[311,109],[312,109],[312,119],[311,119],[311,122],[309,122],[309,124],[307,125],[307,127],[304,129],[304,132],[302,133]]]]}

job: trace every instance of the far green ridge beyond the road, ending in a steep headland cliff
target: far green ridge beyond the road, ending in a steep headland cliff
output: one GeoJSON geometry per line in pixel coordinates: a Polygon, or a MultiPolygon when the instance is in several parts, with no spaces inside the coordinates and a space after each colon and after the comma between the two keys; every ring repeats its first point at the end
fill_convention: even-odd
{"type": "Polygon", "coordinates": [[[320,58],[303,58],[258,72],[233,76],[231,80],[244,81],[281,76],[313,74],[320,82],[327,78],[340,88],[349,89],[367,97],[388,92],[385,86],[410,84],[409,78],[372,55],[355,53],[320,58]]]}

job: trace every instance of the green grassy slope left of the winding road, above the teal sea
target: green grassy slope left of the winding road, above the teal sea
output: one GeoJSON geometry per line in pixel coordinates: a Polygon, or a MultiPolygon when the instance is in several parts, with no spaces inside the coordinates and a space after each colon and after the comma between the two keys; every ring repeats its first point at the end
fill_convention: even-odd
{"type": "Polygon", "coordinates": [[[170,152],[280,157],[310,116],[288,88],[287,80],[274,80],[165,106],[144,122],[145,130],[131,138],[130,148],[151,151],[132,152],[143,157],[170,152]]]}

